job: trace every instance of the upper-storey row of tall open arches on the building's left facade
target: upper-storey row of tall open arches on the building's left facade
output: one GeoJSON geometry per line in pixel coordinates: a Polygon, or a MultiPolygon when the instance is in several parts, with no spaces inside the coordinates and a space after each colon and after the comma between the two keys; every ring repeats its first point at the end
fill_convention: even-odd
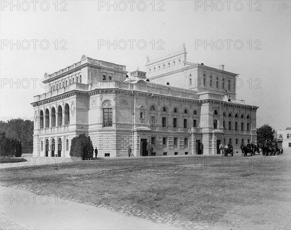
{"type": "Polygon", "coordinates": [[[63,114],[65,114],[65,124],[70,124],[70,106],[68,104],[65,104],[65,113],[63,113],[63,108],[61,105],[58,106],[57,110],[52,107],[50,112],[47,108],[45,110],[45,113],[43,110],[40,110],[39,112],[39,128],[49,128],[49,127],[56,127],[56,126],[62,126],[63,125],[63,114]],[[49,115],[51,115],[51,124],[49,123],[49,115]]]}

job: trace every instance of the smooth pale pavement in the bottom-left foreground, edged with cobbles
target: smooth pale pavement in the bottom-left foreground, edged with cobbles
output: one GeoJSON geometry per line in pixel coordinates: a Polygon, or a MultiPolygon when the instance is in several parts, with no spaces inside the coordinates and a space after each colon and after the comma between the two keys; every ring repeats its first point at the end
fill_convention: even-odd
{"type": "Polygon", "coordinates": [[[125,208],[119,212],[107,205],[62,199],[41,191],[32,192],[28,187],[8,187],[1,185],[1,230],[9,229],[132,229],[132,230],[178,230],[179,221],[169,225],[159,216],[151,216],[141,211],[125,208]],[[23,190],[25,189],[26,190],[23,190]],[[29,190],[29,191],[28,191],[29,190]],[[8,195],[4,198],[3,195],[8,195]],[[13,200],[11,200],[11,195],[13,200]],[[20,202],[17,202],[19,195],[20,202]],[[8,197],[10,196],[10,200],[8,197]],[[27,203],[27,197],[35,197],[27,203]],[[47,197],[40,201],[40,196],[47,197]],[[58,199],[56,199],[58,198],[58,199]],[[24,200],[23,200],[24,199],[24,200]],[[49,199],[49,202],[46,201],[49,199]],[[57,202],[56,202],[57,201],[57,202]],[[44,203],[45,202],[45,203],[44,203]],[[61,205],[62,202],[65,205],[61,205]],[[45,205],[44,205],[45,204],[45,205]],[[94,207],[95,206],[95,207],[94,207]],[[129,211],[130,210],[130,211],[129,211]],[[5,217],[3,217],[5,216],[5,217]],[[154,217],[154,218],[153,218],[154,217]],[[156,219],[156,221],[151,221],[156,219]],[[16,223],[21,223],[24,227],[16,223]],[[85,221],[84,221],[85,220],[85,221]]]}

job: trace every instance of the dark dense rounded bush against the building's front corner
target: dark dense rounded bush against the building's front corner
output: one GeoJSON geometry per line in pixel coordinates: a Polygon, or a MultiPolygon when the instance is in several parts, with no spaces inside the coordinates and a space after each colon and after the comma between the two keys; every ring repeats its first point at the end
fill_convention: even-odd
{"type": "Polygon", "coordinates": [[[80,134],[78,137],[74,137],[71,141],[70,156],[93,158],[93,144],[90,137],[87,137],[85,133],[80,134]]]}

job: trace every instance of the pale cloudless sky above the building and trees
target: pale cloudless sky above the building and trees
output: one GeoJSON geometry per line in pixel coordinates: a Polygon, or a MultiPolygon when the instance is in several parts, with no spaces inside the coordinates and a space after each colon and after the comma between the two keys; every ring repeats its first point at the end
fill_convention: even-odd
{"type": "Polygon", "coordinates": [[[44,74],[83,54],[130,72],[137,65],[145,70],[147,55],[167,54],[184,42],[187,61],[224,64],[240,74],[237,98],[259,106],[257,127],[291,127],[290,1],[207,1],[206,9],[204,2],[111,1],[108,8],[108,1],[94,0],[13,1],[13,7],[1,1],[1,120],[32,118],[30,103],[44,93],[44,74]]]}

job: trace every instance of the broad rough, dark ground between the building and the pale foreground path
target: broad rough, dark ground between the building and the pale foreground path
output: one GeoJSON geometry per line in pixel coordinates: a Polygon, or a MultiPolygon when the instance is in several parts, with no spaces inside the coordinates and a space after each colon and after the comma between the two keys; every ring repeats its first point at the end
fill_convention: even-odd
{"type": "Polygon", "coordinates": [[[2,169],[0,179],[39,194],[106,203],[117,211],[132,208],[181,223],[275,229],[290,215],[290,169],[290,155],[115,158],[2,169]]]}

